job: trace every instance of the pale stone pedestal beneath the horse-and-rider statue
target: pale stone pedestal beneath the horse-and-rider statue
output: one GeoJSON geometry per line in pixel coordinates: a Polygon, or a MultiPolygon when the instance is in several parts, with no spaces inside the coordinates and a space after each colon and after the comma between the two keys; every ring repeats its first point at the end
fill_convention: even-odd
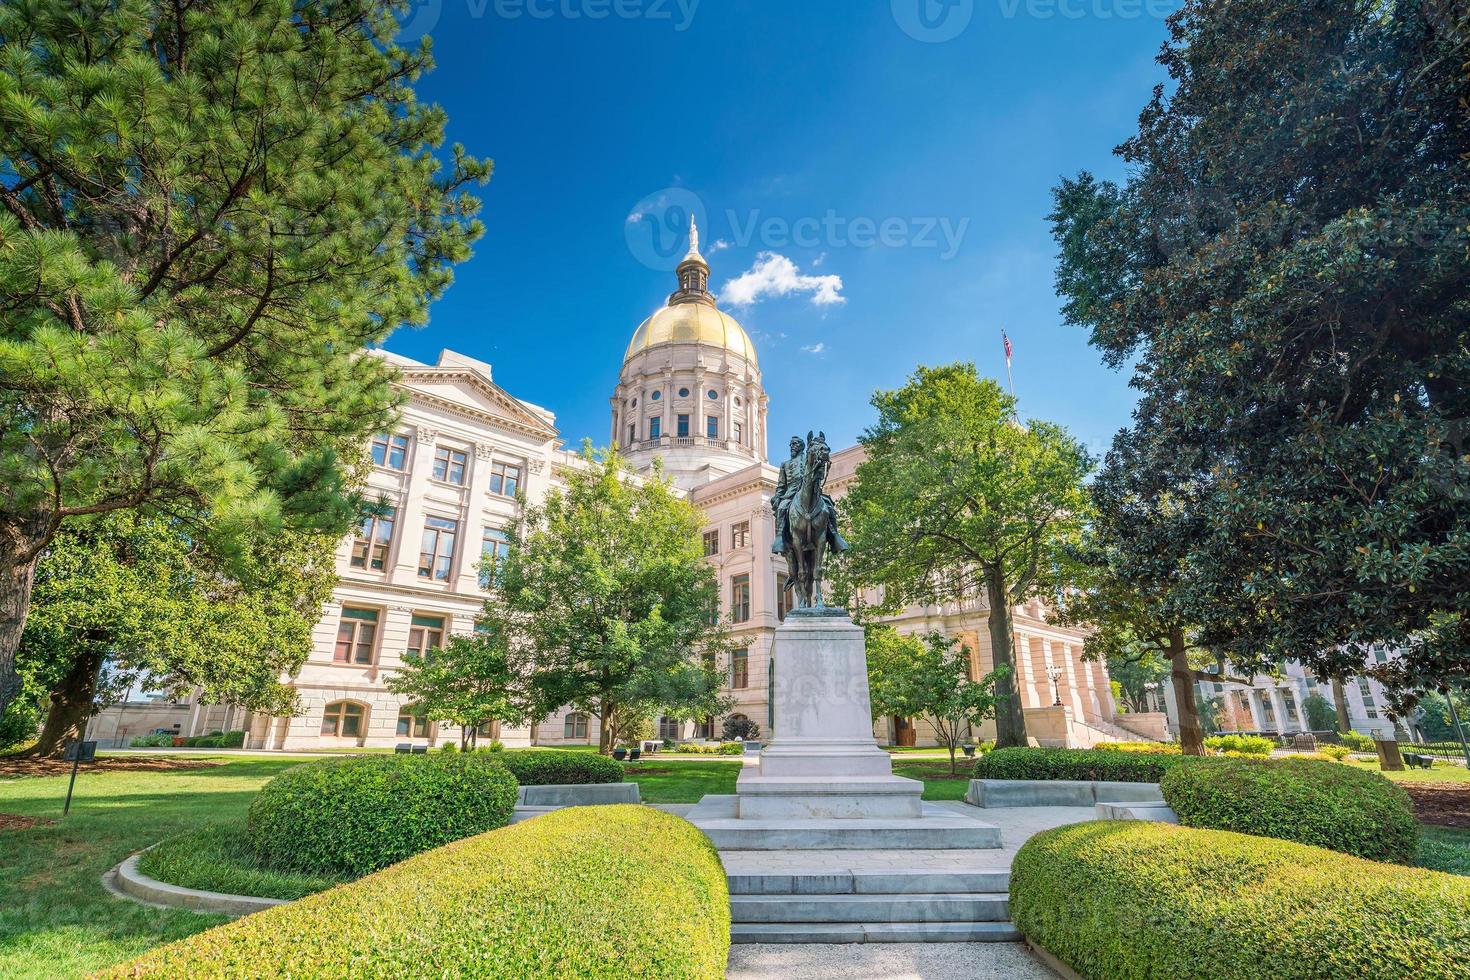
{"type": "Polygon", "coordinates": [[[786,616],[770,696],[776,736],[736,783],[741,820],[920,815],[923,783],[894,776],[873,739],[863,629],[842,610],[786,616]]]}

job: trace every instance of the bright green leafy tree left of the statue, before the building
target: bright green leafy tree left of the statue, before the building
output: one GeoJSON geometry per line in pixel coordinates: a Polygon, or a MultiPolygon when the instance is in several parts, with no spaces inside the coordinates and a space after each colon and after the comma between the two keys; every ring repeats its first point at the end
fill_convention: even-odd
{"type": "Polygon", "coordinates": [[[704,514],[657,472],[634,478],[616,451],[584,445],[563,488],[528,504],[497,558],[479,630],[467,644],[507,651],[531,685],[529,714],[572,705],[601,720],[619,708],[710,716],[728,707],[716,658],[729,646],[719,585],[704,560],[704,514]]]}

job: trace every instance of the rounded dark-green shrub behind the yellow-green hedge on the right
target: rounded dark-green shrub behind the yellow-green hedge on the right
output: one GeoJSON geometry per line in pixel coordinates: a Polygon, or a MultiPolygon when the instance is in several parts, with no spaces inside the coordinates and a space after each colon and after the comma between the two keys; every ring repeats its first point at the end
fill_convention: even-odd
{"type": "Polygon", "coordinates": [[[1160,789],[1189,827],[1280,837],[1376,861],[1411,861],[1419,846],[1408,793],[1351,765],[1220,760],[1176,767],[1160,789]]]}

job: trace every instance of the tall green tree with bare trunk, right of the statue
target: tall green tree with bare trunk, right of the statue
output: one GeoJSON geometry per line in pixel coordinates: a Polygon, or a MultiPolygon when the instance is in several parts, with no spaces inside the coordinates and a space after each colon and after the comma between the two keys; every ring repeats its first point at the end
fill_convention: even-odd
{"type": "Polygon", "coordinates": [[[995,679],[998,742],[1025,745],[1010,608],[1055,595],[1088,519],[1092,463],[1061,426],[1022,425],[1014,400],[973,364],[919,367],[872,401],[867,458],[842,500],[851,550],[835,563],[833,595],[879,588],[879,613],[985,595],[992,663],[1005,670],[995,679]]]}

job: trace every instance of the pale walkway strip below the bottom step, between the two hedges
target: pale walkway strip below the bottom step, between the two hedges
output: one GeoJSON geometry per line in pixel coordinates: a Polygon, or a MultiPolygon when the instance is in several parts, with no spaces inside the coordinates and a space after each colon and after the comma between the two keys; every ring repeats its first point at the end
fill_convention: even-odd
{"type": "Polygon", "coordinates": [[[1022,943],[731,946],[728,980],[1054,980],[1022,943]]]}

